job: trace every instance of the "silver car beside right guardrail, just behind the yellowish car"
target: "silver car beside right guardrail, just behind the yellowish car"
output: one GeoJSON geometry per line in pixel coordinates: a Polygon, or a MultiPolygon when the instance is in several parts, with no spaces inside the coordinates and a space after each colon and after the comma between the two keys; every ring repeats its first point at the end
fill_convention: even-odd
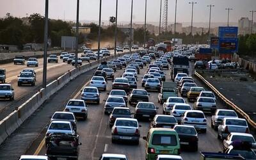
{"type": "Polygon", "coordinates": [[[193,104],[193,108],[208,113],[214,113],[216,111],[216,102],[211,97],[198,97],[193,104]]]}

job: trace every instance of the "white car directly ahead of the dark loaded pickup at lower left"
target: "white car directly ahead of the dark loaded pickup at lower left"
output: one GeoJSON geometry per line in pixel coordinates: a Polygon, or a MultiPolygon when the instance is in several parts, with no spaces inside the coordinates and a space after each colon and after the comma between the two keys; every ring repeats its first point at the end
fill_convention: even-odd
{"type": "Polygon", "coordinates": [[[51,122],[52,121],[67,121],[67,122],[71,122],[74,130],[76,131],[77,127],[76,127],[76,117],[74,115],[74,113],[72,112],[67,112],[67,111],[56,111],[51,118],[51,122]]]}

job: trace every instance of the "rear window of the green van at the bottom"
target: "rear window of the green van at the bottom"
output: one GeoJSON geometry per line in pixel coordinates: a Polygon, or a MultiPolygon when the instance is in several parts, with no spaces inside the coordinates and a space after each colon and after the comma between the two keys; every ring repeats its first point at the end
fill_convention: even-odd
{"type": "Polygon", "coordinates": [[[176,146],[177,138],[173,134],[154,134],[152,137],[152,145],[169,145],[176,146]]]}

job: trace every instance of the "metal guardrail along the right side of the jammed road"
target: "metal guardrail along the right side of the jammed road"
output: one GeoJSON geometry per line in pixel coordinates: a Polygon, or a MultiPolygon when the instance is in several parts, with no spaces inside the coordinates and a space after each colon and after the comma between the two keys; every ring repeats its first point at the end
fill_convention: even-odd
{"type": "Polygon", "coordinates": [[[195,76],[198,77],[201,81],[203,81],[209,88],[211,88],[211,90],[216,95],[218,95],[218,97],[220,97],[220,99],[223,100],[223,102],[225,102],[227,104],[227,106],[229,106],[230,108],[234,109],[239,115],[243,116],[247,120],[248,124],[250,124],[251,129],[253,131],[256,130],[256,123],[241,108],[236,106],[236,104],[234,104],[233,102],[228,100],[224,95],[222,95],[214,86],[212,86],[211,83],[209,83],[206,79],[204,79],[203,76],[198,74],[198,72],[195,72],[195,76]]]}

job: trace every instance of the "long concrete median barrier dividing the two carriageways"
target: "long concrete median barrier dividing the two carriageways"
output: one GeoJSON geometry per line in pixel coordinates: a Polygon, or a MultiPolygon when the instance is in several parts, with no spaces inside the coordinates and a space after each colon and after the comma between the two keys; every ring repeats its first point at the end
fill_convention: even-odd
{"type": "Polygon", "coordinates": [[[47,84],[46,88],[42,88],[40,91],[35,93],[35,95],[19,106],[19,108],[16,108],[15,111],[0,121],[0,144],[3,143],[3,141],[6,140],[6,138],[8,138],[8,136],[10,136],[12,132],[14,132],[20,125],[22,125],[22,123],[25,122],[26,119],[45,102],[45,100],[49,99],[51,95],[60,90],[69,81],[83,74],[84,72],[96,68],[102,61],[113,60],[114,58],[123,56],[124,54],[127,54],[127,52],[116,54],[116,56],[113,55],[107,58],[102,58],[99,61],[93,61],[92,63],[82,65],[78,68],[73,68],[72,70],[69,70],[62,76],[58,77],[58,79],[47,84]]]}

